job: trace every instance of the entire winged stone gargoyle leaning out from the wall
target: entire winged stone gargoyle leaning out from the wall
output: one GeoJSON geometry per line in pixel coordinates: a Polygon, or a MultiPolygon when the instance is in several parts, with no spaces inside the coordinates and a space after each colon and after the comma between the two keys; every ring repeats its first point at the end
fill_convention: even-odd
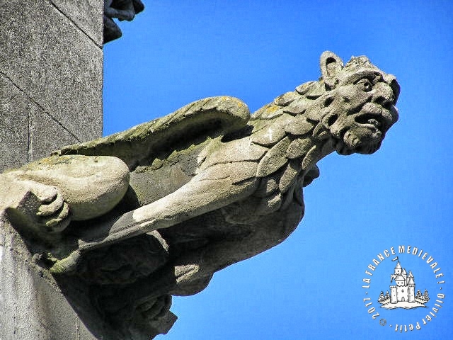
{"type": "Polygon", "coordinates": [[[0,175],[1,218],[55,278],[78,278],[125,339],[171,324],[171,295],[279,244],[333,151],[372,154],[399,86],[367,57],[321,55],[318,81],[250,115],[212,97],[0,175]]]}

